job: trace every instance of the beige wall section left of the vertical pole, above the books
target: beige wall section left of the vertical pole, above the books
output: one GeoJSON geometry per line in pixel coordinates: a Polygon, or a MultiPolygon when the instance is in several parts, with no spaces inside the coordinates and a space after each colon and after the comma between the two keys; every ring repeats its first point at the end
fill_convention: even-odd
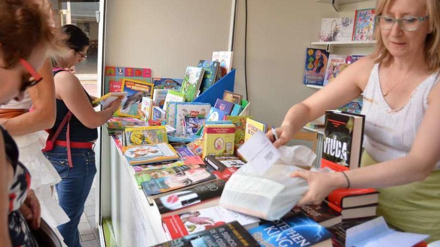
{"type": "Polygon", "coordinates": [[[107,0],[105,65],[182,78],[186,66],[227,50],[230,14],[230,0],[107,0]]]}

